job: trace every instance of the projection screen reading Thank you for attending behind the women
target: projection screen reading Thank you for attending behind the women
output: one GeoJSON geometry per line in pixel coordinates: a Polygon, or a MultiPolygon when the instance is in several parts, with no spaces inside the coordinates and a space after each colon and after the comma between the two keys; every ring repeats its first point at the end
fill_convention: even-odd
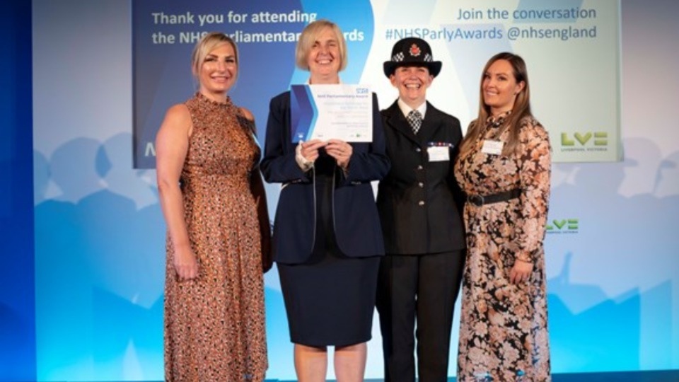
{"type": "Polygon", "coordinates": [[[239,45],[240,86],[232,96],[262,120],[267,112],[262,98],[306,81],[291,53],[304,25],[318,18],[330,18],[344,30],[349,66],[342,81],[372,84],[385,99],[391,88],[381,62],[393,42],[409,36],[429,40],[445,68],[438,82],[450,84],[435,86],[431,96],[447,100],[446,108],[465,117],[475,115],[479,67],[501,50],[518,52],[530,63],[531,75],[558,72],[569,84],[533,86],[543,94],[534,103],[545,113],[555,161],[620,159],[617,1],[559,0],[545,7],[535,0],[425,0],[412,9],[402,0],[196,0],[190,5],[148,0],[132,2],[135,166],[154,167],[156,131],[168,105],[187,98],[188,57],[202,34],[220,30],[239,45]],[[588,70],[574,65],[573,57],[581,57],[588,70]]]}

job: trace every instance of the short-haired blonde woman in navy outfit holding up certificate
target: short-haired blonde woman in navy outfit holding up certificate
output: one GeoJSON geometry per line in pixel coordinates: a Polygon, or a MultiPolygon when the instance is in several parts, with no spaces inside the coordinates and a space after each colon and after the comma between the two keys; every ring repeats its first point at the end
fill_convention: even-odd
{"type": "MultiPolygon", "coordinates": [[[[325,20],[307,25],[296,64],[310,72],[310,84],[340,83],[339,72],[347,64],[340,28],[325,20]]],[[[283,183],[274,260],[299,381],[325,381],[328,346],[335,347],[337,380],[363,380],[384,253],[371,181],[389,170],[378,110],[373,95],[371,143],[313,139],[294,144],[290,93],[269,105],[261,168],[267,182],[283,183]]]]}

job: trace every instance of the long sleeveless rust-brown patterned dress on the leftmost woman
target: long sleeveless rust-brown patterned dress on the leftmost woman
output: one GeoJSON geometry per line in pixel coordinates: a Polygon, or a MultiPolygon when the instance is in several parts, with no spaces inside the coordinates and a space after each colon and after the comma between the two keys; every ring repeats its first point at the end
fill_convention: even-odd
{"type": "Polygon", "coordinates": [[[263,381],[267,369],[260,229],[250,173],[260,158],[253,122],[227,99],[197,93],[180,176],[198,277],[179,282],[166,243],[166,381],[263,381]]]}

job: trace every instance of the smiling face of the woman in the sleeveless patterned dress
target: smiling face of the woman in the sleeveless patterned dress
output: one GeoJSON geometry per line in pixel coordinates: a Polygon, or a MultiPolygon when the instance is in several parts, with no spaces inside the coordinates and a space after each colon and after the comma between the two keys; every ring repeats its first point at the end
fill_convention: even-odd
{"type": "Polygon", "coordinates": [[[236,83],[237,75],[236,50],[230,43],[224,42],[206,54],[200,64],[199,91],[211,100],[224,102],[228,89],[236,83]]]}

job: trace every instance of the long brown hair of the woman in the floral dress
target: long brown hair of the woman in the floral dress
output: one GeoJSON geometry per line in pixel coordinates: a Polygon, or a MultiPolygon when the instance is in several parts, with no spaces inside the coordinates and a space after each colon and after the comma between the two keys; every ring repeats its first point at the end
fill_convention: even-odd
{"type": "Polygon", "coordinates": [[[523,61],[521,56],[509,52],[501,52],[490,57],[481,73],[481,83],[479,86],[479,115],[469,126],[465,139],[463,139],[462,144],[460,145],[460,155],[464,155],[470,151],[475,142],[478,141],[481,134],[483,134],[486,121],[491,115],[490,106],[486,105],[483,101],[483,80],[489,67],[500,59],[504,59],[511,64],[512,74],[516,83],[521,83],[521,81],[523,81],[525,84],[523,90],[516,95],[509,117],[507,117],[503,125],[499,127],[500,129],[509,129],[509,139],[504,145],[504,149],[502,149],[502,154],[511,155],[516,151],[516,147],[518,146],[518,131],[521,127],[519,122],[523,117],[531,115],[528,71],[526,70],[526,62],[523,61]]]}

